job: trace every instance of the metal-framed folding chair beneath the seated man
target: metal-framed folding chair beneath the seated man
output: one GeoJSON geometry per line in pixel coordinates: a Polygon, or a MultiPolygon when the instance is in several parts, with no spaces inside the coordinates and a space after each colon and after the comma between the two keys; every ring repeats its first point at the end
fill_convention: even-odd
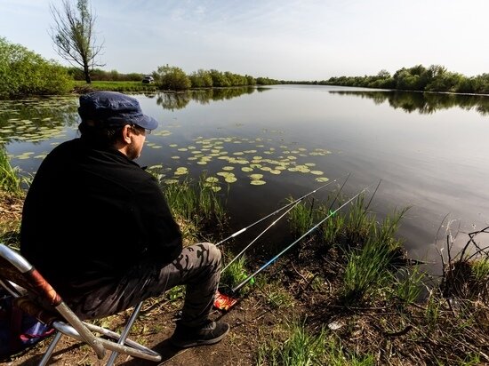
{"type": "Polygon", "coordinates": [[[63,334],[91,346],[99,360],[105,357],[106,351],[111,351],[107,365],[113,365],[118,354],[127,354],[154,362],[161,361],[160,354],[127,338],[140,312],[142,302],[135,306],[121,334],[83,322],[19,251],[3,243],[0,243],[0,285],[14,296],[13,301],[16,306],[57,330],[40,365],[47,364],[63,334]],[[47,301],[52,306],[52,311],[42,306],[40,299],[47,301]]]}

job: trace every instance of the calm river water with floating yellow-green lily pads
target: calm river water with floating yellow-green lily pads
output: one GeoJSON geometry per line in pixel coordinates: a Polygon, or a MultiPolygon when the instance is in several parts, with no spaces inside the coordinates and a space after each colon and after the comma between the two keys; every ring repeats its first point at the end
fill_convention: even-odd
{"type": "MultiPolygon", "coordinates": [[[[411,206],[399,234],[415,259],[439,263],[448,220],[458,247],[463,233],[489,225],[489,96],[278,85],[136,97],[160,122],[139,163],[159,167],[163,179],[205,171],[220,192],[229,187],[236,229],[349,174],[350,196],[369,185],[373,193],[381,180],[370,207],[379,219],[411,206]]],[[[12,165],[34,173],[52,147],[75,137],[76,106],[75,97],[0,101],[0,143],[12,165]]],[[[282,232],[257,245],[289,243],[282,232]]]]}

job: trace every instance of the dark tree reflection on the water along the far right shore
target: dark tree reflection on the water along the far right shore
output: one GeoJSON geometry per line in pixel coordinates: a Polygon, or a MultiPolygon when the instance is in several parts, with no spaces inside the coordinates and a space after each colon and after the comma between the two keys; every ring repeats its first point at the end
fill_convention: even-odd
{"type": "Polygon", "coordinates": [[[330,91],[333,94],[357,96],[373,99],[375,104],[386,101],[395,109],[407,113],[418,111],[421,115],[431,115],[440,109],[461,107],[474,109],[481,115],[489,115],[489,96],[452,93],[414,92],[414,91],[330,91]]]}

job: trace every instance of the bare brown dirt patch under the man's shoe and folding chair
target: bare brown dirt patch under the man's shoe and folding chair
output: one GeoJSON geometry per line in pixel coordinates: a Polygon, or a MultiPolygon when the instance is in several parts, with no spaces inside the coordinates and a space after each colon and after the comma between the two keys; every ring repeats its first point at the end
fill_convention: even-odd
{"type": "MultiPolygon", "coordinates": [[[[149,303],[149,301],[148,301],[149,303]]],[[[215,310],[212,318],[231,325],[228,336],[212,346],[199,346],[178,350],[172,347],[168,338],[174,330],[174,320],[180,309],[181,300],[172,303],[161,301],[149,309],[143,309],[138,321],[133,326],[130,338],[137,340],[156,352],[162,354],[165,365],[253,365],[256,364],[258,347],[269,337],[277,323],[282,322],[287,314],[283,311],[272,311],[263,303],[260,296],[244,298],[228,312],[215,310]]],[[[111,327],[122,323],[127,314],[109,318],[111,327]]],[[[11,362],[1,365],[36,365],[44,354],[51,339],[44,340],[11,362]]],[[[108,359],[106,357],[105,361],[108,359]]],[[[73,341],[68,337],[61,338],[60,344],[52,356],[53,365],[92,365],[99,364],[97,357],[88,346],[73,341]]],[[[100,362],[104,364],[104,362],[100,362]]],[[[119,356],[117,365],[154,365],[132,357],[119,356]]]]}

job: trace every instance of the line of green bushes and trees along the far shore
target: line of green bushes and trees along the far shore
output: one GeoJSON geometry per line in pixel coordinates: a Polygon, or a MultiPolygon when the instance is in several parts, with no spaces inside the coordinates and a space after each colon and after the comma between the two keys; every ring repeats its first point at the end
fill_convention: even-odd
{"type": "MultiPolygon", "coordinates": [[[[445,67],[422,65],[401,68],[390,75],[381,70],[376,76],[340,76],[324,81],[285,81],[269,77],[239,75],[229,71],[199,69],[186,74],[175,66],[160,66],[151,74],[158,89],[182,91],[196,88],[222,88],[271,84],[318,84],[356,86],[403,91],[449,91],[489,94],[489,74],[463,76],[445,67]]],[[[122,74],[116,70],[91,70],[96,81],[140,82],[144,74],[122,74]]],[[[84,70],[64,67],[54,60],[45,60],[20,44],[12,44],[0,37],[0,98],[28,95],[60,94],[73,88],[73,80],[85,80],[84,70]]]]}

